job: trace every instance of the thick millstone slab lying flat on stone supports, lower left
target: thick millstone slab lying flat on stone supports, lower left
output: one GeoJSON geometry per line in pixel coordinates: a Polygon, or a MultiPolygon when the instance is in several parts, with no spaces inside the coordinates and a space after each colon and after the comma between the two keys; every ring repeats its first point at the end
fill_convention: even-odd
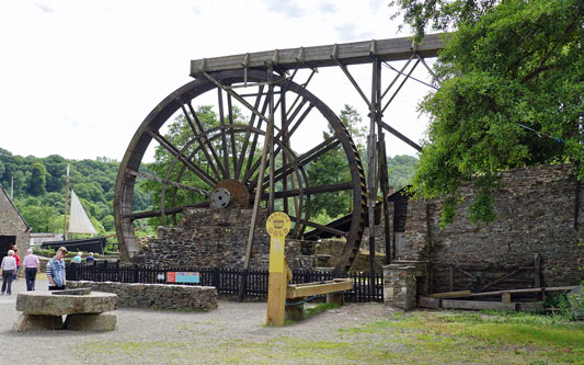
{"type": "Polygon", "coordinates": [[[117,295],[92,292],[89,295],[53,295],[50,292],[19,293],[16,310],[25,315],[64,316],[102,313],[115,310],[117,295]]]}

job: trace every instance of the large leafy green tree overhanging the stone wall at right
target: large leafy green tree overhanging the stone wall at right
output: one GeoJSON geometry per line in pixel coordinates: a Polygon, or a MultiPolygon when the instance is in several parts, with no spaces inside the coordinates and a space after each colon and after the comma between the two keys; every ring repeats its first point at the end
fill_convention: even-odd
{"type": "Polygon", "coordinates": [[[431,117],[413,179],[416,196],[445,196],[455,217],[474,179],[473,220],[492,221],[500,171],[572,162],[584,179],[584,2],[399,0],[419,36],[457,28],[438,57],[445,79],[421,110],[431,117]]]}

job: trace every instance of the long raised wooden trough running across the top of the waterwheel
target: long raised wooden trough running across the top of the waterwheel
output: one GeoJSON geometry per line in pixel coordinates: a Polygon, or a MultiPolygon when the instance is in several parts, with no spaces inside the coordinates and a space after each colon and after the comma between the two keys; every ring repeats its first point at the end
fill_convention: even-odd
{"type": "MultiPolygon", "coordinates": [[[[438,50],[444,47],[440,35],[427,35],[424,42],[416,46],[416,52],[422,57],[436,57],[438,50]]],[[[344,65],[371,62],[371,49],[375,49],[375,55],[381,60],[404,60],[412,55],[412,37],[401,37],[203,58],[191,61],[191,76],[197,77],[202,71],[242,69],[245,65],[249,68],[264,68],[272,61],[284,69],[336,66],[332,57],[333,52],[344,65]]]]}

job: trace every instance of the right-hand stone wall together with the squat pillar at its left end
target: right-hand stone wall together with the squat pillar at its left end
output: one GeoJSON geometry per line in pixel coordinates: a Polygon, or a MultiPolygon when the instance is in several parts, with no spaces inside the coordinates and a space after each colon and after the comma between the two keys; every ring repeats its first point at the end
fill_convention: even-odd
{"type": "Polygon", "coordinates": [[[444,229],[438,227],[440,199],[408,201],[399,235],[403,244],[385,266],[387,303],[412,308],[421,294],[579,285],[584,280],[584,191],[572,168],[515,169],[504,172],[501,183],[494,194],[497,220],[490,225],[469,219],[471,183],[460,189],[465,202],[444,229]]]}

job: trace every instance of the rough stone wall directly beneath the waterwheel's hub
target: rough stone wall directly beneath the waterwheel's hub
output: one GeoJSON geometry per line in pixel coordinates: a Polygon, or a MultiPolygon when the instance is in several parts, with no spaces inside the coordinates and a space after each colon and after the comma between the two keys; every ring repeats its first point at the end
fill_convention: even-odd
{"type": "MultiPolygon", "coordinates": [[[[146,264],[241,269],[245,259],[252,209],[186,209],[182,226],[159,227],[148,241],[146,264]]],[[[266,210],[260,209],[250,269],[267,269],[270,236],[266,210]]],[[[290,269],[312,269],[311,242],[286,239],[290,269]],[[306,254],[305,254],[306,253],[306,254]]]]}

